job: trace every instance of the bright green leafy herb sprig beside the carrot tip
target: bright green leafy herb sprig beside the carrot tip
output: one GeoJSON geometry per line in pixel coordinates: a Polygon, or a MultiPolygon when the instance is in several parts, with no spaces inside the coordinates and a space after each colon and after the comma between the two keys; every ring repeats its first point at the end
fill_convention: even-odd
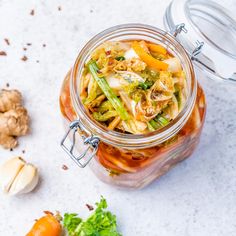
{"type": "Polygon", "coordinates": [[[87,220],[82,220],[74,213],[64,215],[63,226],[69,236],[121,236],[117,231],[116,216],[105,211],[106,200],[102,197],[96,206],[87,220]]]}

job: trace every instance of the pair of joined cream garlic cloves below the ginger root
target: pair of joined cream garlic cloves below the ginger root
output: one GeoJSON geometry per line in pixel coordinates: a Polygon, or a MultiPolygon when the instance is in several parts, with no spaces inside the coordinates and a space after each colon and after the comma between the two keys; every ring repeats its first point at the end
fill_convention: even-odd
{"type": "Polygon", "coordinates": [[[17,195],[31,192],[38,184],[37,168],[16,157],[0,167],[0,186],[4,193],[17,195]]]}

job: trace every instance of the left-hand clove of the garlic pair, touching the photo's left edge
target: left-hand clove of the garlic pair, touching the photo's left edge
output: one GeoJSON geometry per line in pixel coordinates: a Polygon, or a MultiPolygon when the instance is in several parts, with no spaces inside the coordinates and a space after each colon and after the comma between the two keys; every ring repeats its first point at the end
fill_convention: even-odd
{"type": "Polygon", "coordinates": [[[0,186],[4,193],[8,193],[20,170],[24,167],[25,161],[20,157],[6,161],[0,167],[0,186]]]}

